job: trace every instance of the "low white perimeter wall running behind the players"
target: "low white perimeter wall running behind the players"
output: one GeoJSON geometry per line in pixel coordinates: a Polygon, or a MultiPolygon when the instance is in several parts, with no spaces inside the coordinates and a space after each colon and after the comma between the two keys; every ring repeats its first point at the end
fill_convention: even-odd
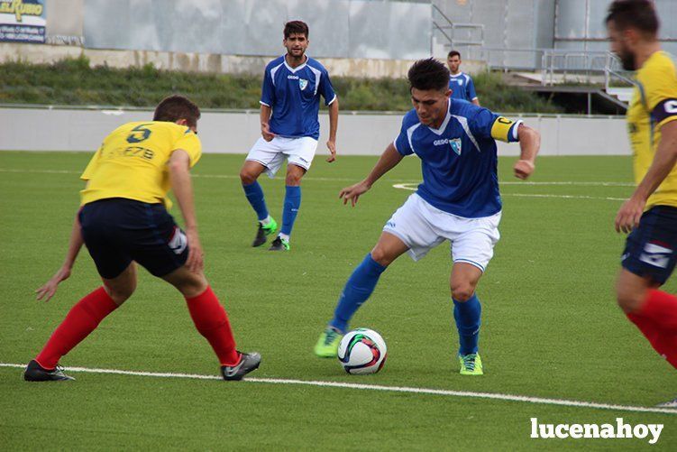
{"type": "MultiPolygon", "coordinates": [[[[338,152],[377,155],[397,136],[402,115],[351,112],[339,117],[338,152]]],[[[513,115],[512,117],[516,117],[513,115]]],[[[518,115],[541,133],[541,155],[629,155],[625,120],[609,116],[518,115]]],[[[96,151],[115,127],[147,121],[151,111],[0,108],[0,150],[96,151]]],[[[328,116],[320,115],[319,153],[326,153],[328,116]]],[[[204,112],[198,125],[204,152],[245,153],[260,135],[259,112],[204,112]]],[[[499,143],[500,155],[519,145],[499,143]]]]}

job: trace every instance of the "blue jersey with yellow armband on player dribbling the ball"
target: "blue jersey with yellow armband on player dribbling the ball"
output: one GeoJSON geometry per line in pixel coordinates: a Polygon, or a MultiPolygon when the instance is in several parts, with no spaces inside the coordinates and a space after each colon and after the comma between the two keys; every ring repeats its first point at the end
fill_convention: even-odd
{"type": "Polygon", "coordinates": [[[519,123],[450,99],[439,129],[421,124],[411,110],[393,144],[400,154],[421,159],[423,182],[416,193],[426,202],[457,217],[489,217],[501,209],[494,140],[517,142],[519,123]]]}

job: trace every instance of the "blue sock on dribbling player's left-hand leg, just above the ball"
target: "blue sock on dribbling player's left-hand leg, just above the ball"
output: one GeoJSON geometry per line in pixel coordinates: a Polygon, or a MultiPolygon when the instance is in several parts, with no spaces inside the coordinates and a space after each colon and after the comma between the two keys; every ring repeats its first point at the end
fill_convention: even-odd
{"type": "Polygon", "coordinates": [[[352,315],[370,297],[376,283],[379,282],[380,274],[385,272],[386,268],[371,259],[371,254],[367,254],[345,283],[329,326],[345,333],[352,315]]]}

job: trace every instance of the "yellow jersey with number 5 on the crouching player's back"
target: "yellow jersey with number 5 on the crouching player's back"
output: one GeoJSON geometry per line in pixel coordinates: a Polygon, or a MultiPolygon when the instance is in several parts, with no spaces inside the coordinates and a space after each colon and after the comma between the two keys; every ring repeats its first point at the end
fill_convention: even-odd
{"type": "Polygon", "coordinates": [[[87,180],[80,191],[81,205],[127,198],[170,208],[167,163],[177,149],[188,152],[191,168],[202,155],[199,138],[186,125],[165,121],[121,125],[105,137],[80,176],[87,180]]]}

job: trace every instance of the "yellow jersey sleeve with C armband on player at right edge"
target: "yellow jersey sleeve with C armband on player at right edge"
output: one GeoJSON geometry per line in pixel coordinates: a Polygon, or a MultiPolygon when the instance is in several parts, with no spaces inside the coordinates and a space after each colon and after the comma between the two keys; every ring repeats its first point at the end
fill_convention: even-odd
{"type": "Polygon", "coordinates": [[[646,111],[656,126],[677,119],[677,73],[672,60],[665,58],[637,74],[646,111]]]}

